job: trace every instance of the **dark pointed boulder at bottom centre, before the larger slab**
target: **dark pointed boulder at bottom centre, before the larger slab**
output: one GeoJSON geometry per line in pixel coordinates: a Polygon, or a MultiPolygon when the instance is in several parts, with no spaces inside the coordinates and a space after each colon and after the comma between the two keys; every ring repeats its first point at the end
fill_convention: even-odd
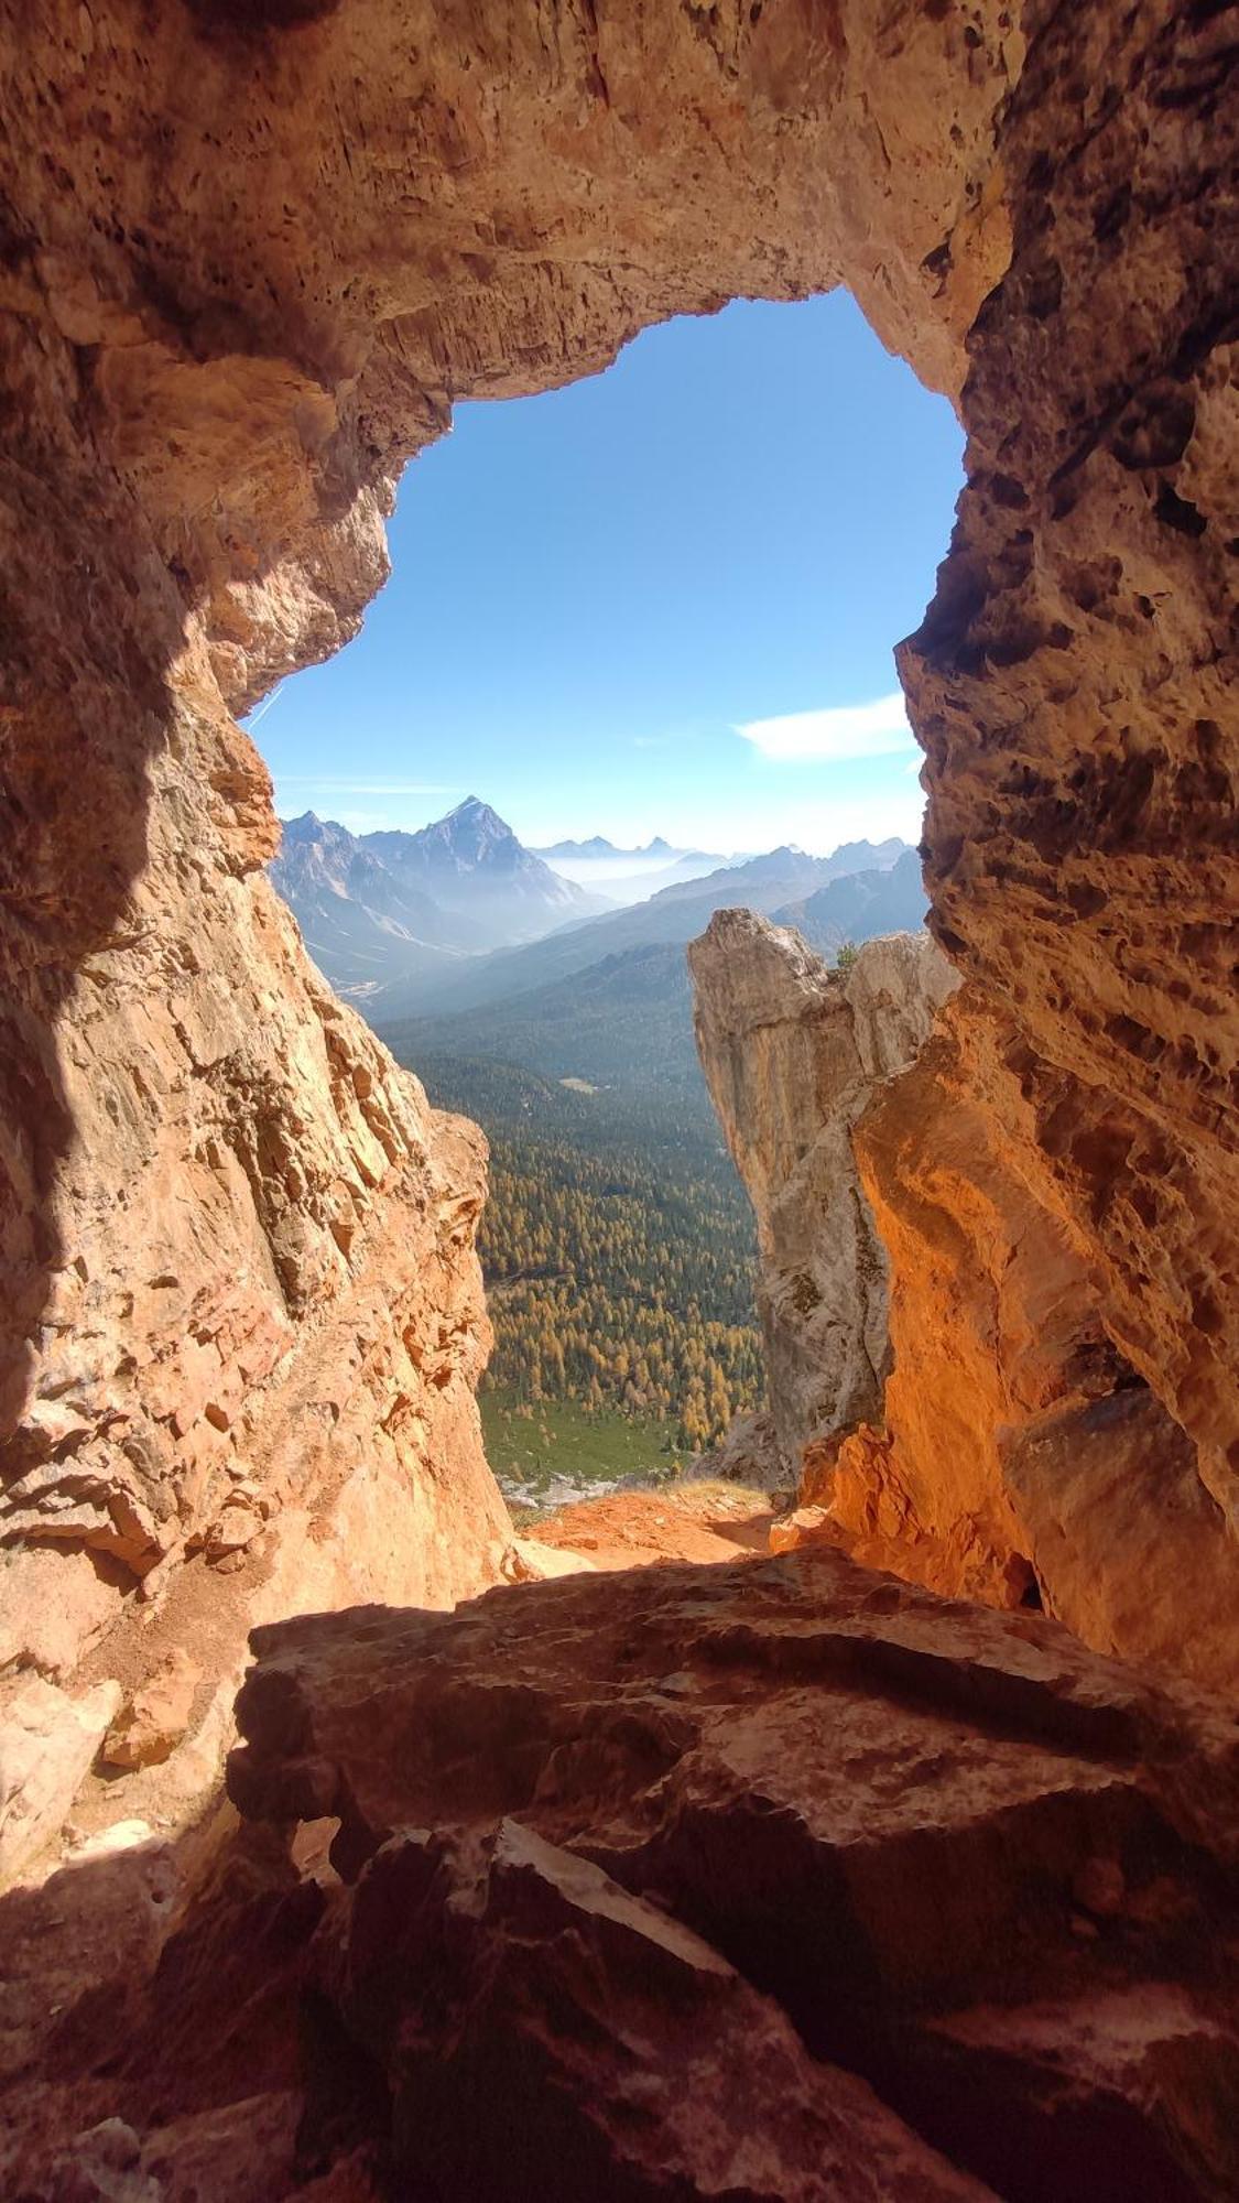
{"type": "Polygon", "coordinates": [[[346,2027],[388,2075],[397,2163],[428,2203],[985,2192],[862,2082],[818,2066],[778,2005],[664,1906],[518,1820],[481,1840],[392,1837],[337,1965],[346,2027]]]}

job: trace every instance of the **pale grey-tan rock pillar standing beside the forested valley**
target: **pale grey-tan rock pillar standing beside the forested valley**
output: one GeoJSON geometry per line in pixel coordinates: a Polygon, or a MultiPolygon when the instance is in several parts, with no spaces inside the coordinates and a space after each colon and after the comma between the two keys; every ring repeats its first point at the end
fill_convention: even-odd
{"type": "Polygon", "coordinates": [[[721,910],[688,963],[701,1068],[756,1214],[769,1406],[796,1483],[805,1445],[882,1417],[886,1258],[851,1128],[959,978],[926,934],[829,972],[752,910],[721,910]]]}

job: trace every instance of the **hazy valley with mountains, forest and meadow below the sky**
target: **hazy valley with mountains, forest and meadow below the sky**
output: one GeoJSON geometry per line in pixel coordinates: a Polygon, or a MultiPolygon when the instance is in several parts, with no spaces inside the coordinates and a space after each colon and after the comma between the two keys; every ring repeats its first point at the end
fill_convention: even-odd
{"type": "Polygon", "coordinates": [[[271,877],[324,976],[487,1132],[483,1419],[509,1496],[714,1447],[765,1377],[752,1209],[697,1062],[686,945],[734,905],[827,958],[919,927],[915,853],[529,850],[470,797],[417,835],[291,820],[271,877]]]}

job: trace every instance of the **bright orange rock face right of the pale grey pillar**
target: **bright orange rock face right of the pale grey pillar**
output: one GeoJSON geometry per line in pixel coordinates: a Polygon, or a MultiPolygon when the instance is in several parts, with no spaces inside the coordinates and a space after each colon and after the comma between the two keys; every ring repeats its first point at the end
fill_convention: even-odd
{"type": "Polygon", "coordinates": [[[862,1558],[1036,1595],[1100,1650],[1235,1681],[1239,1544],[1113,1344],[1105,1265],[1034,1137],[1041,1086],[1012,1024],[963,991],[855,1126],[895,1366],[884,1436],[820,1450],[805,1494],[831,1498],[862,1558]]]}

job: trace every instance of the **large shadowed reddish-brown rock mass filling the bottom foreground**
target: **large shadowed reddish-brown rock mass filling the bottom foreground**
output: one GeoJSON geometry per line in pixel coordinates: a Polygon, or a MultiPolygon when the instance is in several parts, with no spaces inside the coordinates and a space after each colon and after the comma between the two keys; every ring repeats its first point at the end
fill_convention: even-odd
{"type": "Polygon", "coordinates": [[[340,1817],[344,1884],[256,1826],[40,2007],[15,2192],[106,2119],[174,2199],[205,2135],[238,2196],[1235,2190],[1224,1701],[798,1553],[282,1624],[238,1716],[243,1813],[340,1817]]]}

